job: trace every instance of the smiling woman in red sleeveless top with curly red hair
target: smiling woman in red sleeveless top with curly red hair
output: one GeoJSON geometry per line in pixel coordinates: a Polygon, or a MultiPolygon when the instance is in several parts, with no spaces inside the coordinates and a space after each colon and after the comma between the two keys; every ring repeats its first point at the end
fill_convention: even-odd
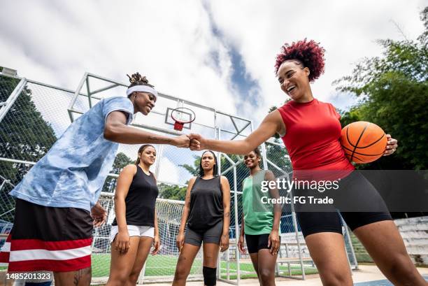
{"type": "MultiPolygon", "coordinates": [[[[243,140],[216,141],[190,134],[190,148],[244,155],[278,133],[290,154],[294,175],[304,170],[352,173],[354,167],[346,159],[339,142],[340,115],[330,103],[314,99],[311,90],[310,83],[324,72],[324,49],[315,41],[285,44],[276,58],[275,67],[280,89],[290,96],[291,101],[269,113],[260,126],[243,140]]],[[[385,155],[391,155],[396,148],[397,140],[388,135],[385,155]]],[[[366,190],[382,204],[376,189],[364,177],[353,173],[343,180],[352,180],[349,186],[366,190]],[[350,177],[353,178],[348,179],[350,177]]],[[[392,283],[427,285],[411,262],[386,206],[385,210],[376,213],[341,214],[392,283]]],[[[297,213],[297,217],[322,284],[353,285],[338,213],[297,213]]]]}

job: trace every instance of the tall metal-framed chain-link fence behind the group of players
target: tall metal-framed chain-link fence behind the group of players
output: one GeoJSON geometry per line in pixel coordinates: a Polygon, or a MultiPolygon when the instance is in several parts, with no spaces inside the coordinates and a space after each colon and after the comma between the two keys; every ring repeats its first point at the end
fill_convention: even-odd
{"type": "MultiPolygon", "coordinates": [[[[62,135],[71,120],[75,120],[99,99],[125,94],[126,85],[86,73],[76,92],[24,78],[0,74],[0,240],[13,225],[15,201],[8,192],[22,180],[38,159],[62,135]],[[108,86],[106,86],[108,83],[108,86]],[[67,108],[68,107],[68,108],[67,108]]],[[[168,122],[169,108],[187,107],[194,110],[197,120],[185,124],[185,132],[199,133],[208,138],[240,139],[252,131],[249,120],[221,113],[213,108],[159,94],[155,108],[148,116],[137,115],[133,124],[157,134],[176,135],[168,122]]],[[[267,111],[266,111],[267,112],[267,111]]],[[[120,144],[113,169],[101,192],[100,202],[108,210],[108,222],[94,229],[92,244],[92,277],[94,283],[105,283],[110,269],[110,227],[114,219],[113,194],[117,176],[127,164],[135,162],[139,145],[120,144]]],[[[152,172],[157,176],[159,199],[156,209],[162,250],[149,256],[141,280],[171,281],[178,259],[176,235],[183,211],[187,182],[198,171],[201,152],[155,145],[157,159],[152,172]]],[[[277,178],[288,178],[292,171],[283,143],[276,138],[262,146],[262,167],[273,171],[277,178]]],[[[219,259],[218,277],[239,283],[240,278],[255,277],[248,256],[240,256],[236,236],[241,224],[242,183],[249,176],[243,156],[218,154],[220,173],[231,186],[231,224],[229,250],[219,259]]],[[[278,263],[278,274],[301,275],[316,269],[309,258],[299,226],[291,210],[281,217],[280,231],[283,243],[278,263]],[[290,257],[291,259],[286,259],[290,257]]],[[[352,245],[347,243],[350,264],[357,266],[352,245]]],[[[0,241],[0,246],[1,246],[0,241]]],[[[190,279],[201,279],[201,253],[192,267],[190,279]]]]}

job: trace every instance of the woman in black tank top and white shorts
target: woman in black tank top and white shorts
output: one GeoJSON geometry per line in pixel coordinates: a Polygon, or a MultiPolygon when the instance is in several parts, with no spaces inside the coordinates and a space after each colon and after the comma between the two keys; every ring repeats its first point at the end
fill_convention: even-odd
{"type": "Polygon", "coordinates": [[[117,178],[110,276],[106,285],[136,285],[152,244],[155,247],[152,255],[159,251],[155,210],[159,190],[154,174],[149,171],[155,159],[155,148],[142,145],[136,164],[125,166],[117,178]]]}

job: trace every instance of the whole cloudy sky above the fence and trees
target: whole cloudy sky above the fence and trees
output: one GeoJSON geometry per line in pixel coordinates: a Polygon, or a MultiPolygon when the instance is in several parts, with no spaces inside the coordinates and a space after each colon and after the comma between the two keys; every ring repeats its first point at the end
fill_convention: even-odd
{"type": "Polygon", "coordinates": [[[257,123],[285,99],[273,73],[285,42],[319,41],[326,72],[313,93],[355,99],[331,82],[378,38],[414,39],[428,1],[2,1],[0,66],[75,90],[85,71],[127,82],[139,71],[166,94],[257,123]],[[401,31],[400,31],[401,30],[401,31]]]}

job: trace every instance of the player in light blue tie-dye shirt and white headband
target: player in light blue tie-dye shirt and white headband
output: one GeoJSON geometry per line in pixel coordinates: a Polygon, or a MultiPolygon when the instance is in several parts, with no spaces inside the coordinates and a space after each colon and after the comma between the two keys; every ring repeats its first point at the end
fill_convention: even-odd
{"type": "Polygon", "coordinates": [[[9,272],[53,271],[55,284],[90,285],[92,224],[106,220],[97,202],[119,143],[187,148],[185,135],[167,137],[129,127],[148,115],[157,92],[134,73],[127,98],[101,99],[74,121],[10,192],[16,198],[13,229],[0,252],[9,272]]]}

